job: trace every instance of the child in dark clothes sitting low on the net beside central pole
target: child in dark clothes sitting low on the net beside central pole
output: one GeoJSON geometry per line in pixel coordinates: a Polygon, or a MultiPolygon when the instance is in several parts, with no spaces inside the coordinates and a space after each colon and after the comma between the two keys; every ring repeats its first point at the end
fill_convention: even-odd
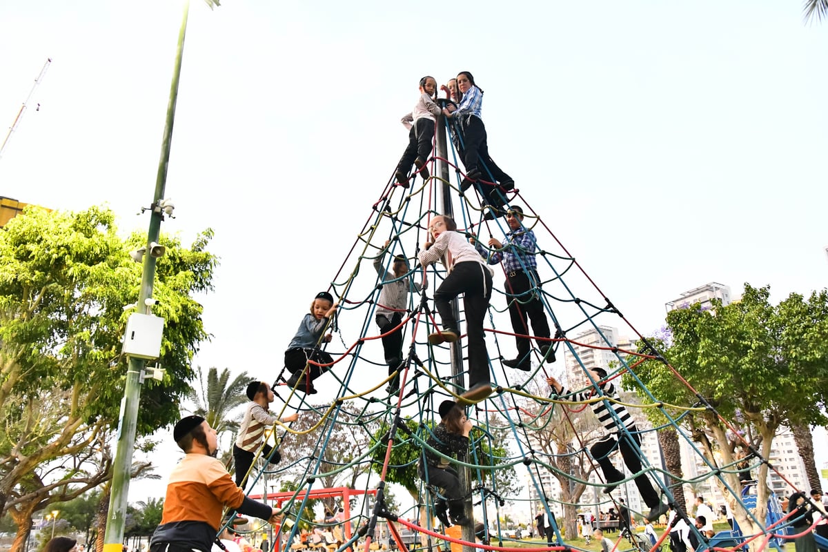
{"type": "MultiPolygon", "coordinates": [[[[460,478],[455,469],[450,468],[449,459],[445,457],[454,458],[455,454],[469,449],[472,423],[455,401],[441,402],[438,412],[440,423],[426,439],[426,444],[437,452],[432,452],[428,447],[423,448],[417,473],[427,484],[443,489],[443,494],[448,500],[451,521],[459,526],[470,526],[472,521],[465,515],[464,492],[460,487],[460,478]]],[[[443,525],[448,526],[445,519],[445,501],[437,500],[434,509],[443,525]]]]}

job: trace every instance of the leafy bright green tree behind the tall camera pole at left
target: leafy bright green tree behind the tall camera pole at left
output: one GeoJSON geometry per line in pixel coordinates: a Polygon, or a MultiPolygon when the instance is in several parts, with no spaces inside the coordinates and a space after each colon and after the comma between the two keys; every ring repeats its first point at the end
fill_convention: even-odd
{"type": "MultiPolygon", "coordinates": [[[[166,256],[152,311],[166,320],[159,362],[167,375],[145,384],[139,434],[179,417],[190,360],[207,337],[193,295],[212,289],[210,236],[189,249],[160,238],[166,256]]],[[[128,252],[141,243],[137,233],[119,238],[114,214],[99,207],[29,208],[0,232],[0,511],[18,525],[12,550],[34,512],[110,477],[108,439],[125,380],[123,306],[136,301],[141,278],[128,252]]]]}

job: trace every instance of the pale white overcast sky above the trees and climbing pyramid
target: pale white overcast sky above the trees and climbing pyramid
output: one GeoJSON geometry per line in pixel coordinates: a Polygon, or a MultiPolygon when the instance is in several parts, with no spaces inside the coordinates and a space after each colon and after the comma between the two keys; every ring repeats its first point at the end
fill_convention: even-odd
{"type": "MultiPolygon", "coordinates": [[[[180,15],[2,2],[0,123],[53,63],[0,195],[107,203],[124,233],[146,229],[180,15]]],[[[821,289],[826,46],[801,2],[194,0],[162,230],[216,232],[197,362],[275,377],[402,153],[423,74],[474,73],[498,164],[643,334],[709,281],[821,289]]]]}

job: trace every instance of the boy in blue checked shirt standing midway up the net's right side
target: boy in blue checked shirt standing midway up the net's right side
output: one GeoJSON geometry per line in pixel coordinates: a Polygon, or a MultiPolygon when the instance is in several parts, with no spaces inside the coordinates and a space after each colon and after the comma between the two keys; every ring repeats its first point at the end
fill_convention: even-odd
{"type": "MultiPolygon", "coordinates": [[[[540,286],[541,279],[537,276],[535,233],[528,228],[523,228],[523,209],[518,205],[509,208],[506,223],[509,226],[509,232],[506,234],[505,242],[500,242],[495,238],[489,240],[489,247],[497,250],[491,253],[491,257],[489,257],[489,250],[479,242],[472,241],[472,243],[482,257],[489,257],[490,265],[503,261],[503,270],[506,271],[509,318],[512,319],[512,329],[516,334],[515,344],[517,344],[517,357],[504,360],[503,366],[528,372],[532,369],[532,361],[529,358],[532,343],[527,338],[529,334],[527,316],[532,322],[532,330],[539,338],[550,337],[549,323],[546,322],[543,303],[536,290],[536,287],[540,286]]],[[[546,362],[555,362],[552,342],[539,339],[537,344],[541,349],[542,358],[546,362]]]]}

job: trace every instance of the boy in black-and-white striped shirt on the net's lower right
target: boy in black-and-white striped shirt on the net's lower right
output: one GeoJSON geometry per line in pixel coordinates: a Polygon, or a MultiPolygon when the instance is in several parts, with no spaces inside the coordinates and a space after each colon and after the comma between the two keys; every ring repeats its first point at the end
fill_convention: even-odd
{"type": "MultiPolygon", "coordinates": [[[[619,449],[623,463],[630,473],[640,472],[642,467],[641,458],[638,458],[638,450],[641,447],[641,437],[638,435],[633,416],[620,404],[615,386],[605,379],[607,377],[606,370],[604,368],[592,368],[590,374],[603,396],[606,397],[604,401],[590,403],[590,406],[599,422],[604,425],[604,429],[608,431],[604,438],[590,447],[590,454],[604,471],[604,480],[608,483],[617,483],[623,481],[623,473],[615,468],[609,460],[609,455],[616,448],[619,449]]],[[[554,377],[547,377],[546,383],[552,387],[558,398],[564,401],[584,402],[595,398],[594,389],[573,394],[567,392],[564,386],[554,377]]],[[[652,488],[652,483],[645,474],[642,473],[635,478],[635,485],[638,487],[638,492],[641,493],[644,503],[650,508],[646,516],[648,520],[656,521],[659,516],[667,513],[667,505],[661,502],[658,493],[652,488]]],[[[612,492],[615,487],[618,487],[618,485],[611,484],[604,488],[604,492],[612,492]]]]}

